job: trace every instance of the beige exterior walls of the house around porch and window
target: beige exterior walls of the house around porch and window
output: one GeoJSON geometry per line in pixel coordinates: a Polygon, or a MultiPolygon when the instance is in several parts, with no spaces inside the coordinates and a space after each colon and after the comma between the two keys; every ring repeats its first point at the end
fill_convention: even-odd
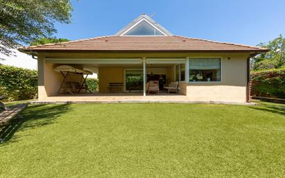
{"type": "MultiPolygon", "coordinates": [[[[247,57],[250,53],[39,53],[39,98],[55,96],[62,82],[62,75],[53,71],[55,64],[44,62],[44,57],[80,58],[131,58],[131,57],[221,57],[221,82],[181,82],[181,94],[191,100],[246,101],[247,57]],[[230,60],[228,60],[230,57],[230,60]]],[[[59,62],[60,63],[60,62],[59,62]]],[[[174,78],[174,66],[167,68],[167,78],[174,78]]],[[[124,69],[99,67],[100,92],[109,92],[109,82],[124,82],[124,69]]]]}

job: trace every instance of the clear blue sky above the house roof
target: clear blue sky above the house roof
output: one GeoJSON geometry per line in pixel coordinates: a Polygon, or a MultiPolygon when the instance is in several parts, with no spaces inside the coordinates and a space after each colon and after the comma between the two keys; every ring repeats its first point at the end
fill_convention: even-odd
{"type": "Polygon", "coordinates": [[[256,45],[285,36],[284,0],[73,0],[71,24],[56,37],[113,35],[141,13],[153,15],[174,35],[256,45]]]}

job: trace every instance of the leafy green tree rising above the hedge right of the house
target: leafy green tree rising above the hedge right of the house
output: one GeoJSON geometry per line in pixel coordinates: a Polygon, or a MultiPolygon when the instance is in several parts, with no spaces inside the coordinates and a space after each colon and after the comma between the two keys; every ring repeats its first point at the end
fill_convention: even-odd
{"type": "Polygon", "coordinates": [[[258,46],[269,48],[268,53],[262,53],[252,58],[254,70],[279,69],[285,66],[285,38],[282,35],[268,43],[261,43],[258,46]]]}

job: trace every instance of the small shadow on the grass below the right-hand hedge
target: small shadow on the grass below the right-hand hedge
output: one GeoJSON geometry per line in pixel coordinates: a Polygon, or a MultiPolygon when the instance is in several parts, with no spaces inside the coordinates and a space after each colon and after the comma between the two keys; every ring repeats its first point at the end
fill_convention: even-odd
{"type": "Polygon", "coordinates": [[[250,107],[252,109],[257,109],[259,111],[264,111],[264,112],[271,112],[274,114],[280,114],[285,116],[285,105],[279,104],[279,105],[274,105],[270,103],[262,103],[261,105],[255,106],[255,107],[250,107]]]}

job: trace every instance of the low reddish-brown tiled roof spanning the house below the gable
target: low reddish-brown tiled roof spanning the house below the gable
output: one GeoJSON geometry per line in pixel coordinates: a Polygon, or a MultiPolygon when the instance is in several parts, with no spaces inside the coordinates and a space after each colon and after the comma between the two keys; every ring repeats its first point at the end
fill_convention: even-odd
{"type": "Polygon", "coordinates": [[[24,51],[256,51],[266,48],[181,36],[106,36],[28,46],[24,51]]]}

